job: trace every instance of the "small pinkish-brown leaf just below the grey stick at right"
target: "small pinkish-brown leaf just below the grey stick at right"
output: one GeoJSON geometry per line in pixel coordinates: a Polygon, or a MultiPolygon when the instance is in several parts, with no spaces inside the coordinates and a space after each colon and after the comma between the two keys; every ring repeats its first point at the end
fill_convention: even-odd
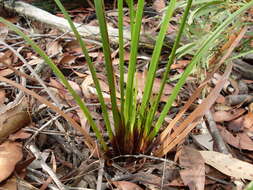
{"type": "Polygon", "coordinates": [[[213,114],[214,121],[231,121],[245,113],[245,109],[239,108],[231,111],[217,111],[213,114]]]}

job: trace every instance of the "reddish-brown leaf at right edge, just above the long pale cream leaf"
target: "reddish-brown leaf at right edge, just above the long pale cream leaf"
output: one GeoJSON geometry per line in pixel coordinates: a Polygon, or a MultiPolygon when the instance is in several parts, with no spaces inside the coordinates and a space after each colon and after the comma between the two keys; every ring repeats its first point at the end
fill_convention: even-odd
{"type": "Polygon", "coordinates": [[[238,149],[253,151],[253,141],[246,133],[231,134],[222,126],[218,126],[221,136],[230,145],[238,149]]]}

